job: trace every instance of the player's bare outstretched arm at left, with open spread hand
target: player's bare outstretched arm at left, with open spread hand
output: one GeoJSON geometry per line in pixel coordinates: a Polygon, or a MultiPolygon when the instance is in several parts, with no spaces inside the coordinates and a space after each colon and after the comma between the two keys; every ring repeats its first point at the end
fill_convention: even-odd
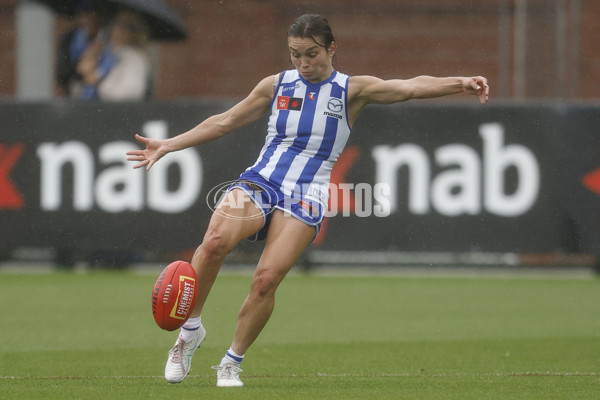
{"type": "Polygon", "coordinates": [[[127,160],[137,161],[133,168],[146,167],[149,170],[167,153],[210,142],[257,120],[269,110],[274,79],[274,76],[263,79],[244,100],[224,113],[205,119],[180,135],[164,140],[135,135],[136,140],[146,148],[128,151],[127,160]]]}

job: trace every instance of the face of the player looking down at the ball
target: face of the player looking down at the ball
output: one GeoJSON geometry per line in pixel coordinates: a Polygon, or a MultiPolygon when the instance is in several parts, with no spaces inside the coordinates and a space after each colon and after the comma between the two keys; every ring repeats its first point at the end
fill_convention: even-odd
{"type": "Polygon", "coordinates": [[[333,72],[335,42],[329,49],[319,46],[312,38],[288,38],[292,63],[300,75],[311,83],[322,82],[333,72]]]}

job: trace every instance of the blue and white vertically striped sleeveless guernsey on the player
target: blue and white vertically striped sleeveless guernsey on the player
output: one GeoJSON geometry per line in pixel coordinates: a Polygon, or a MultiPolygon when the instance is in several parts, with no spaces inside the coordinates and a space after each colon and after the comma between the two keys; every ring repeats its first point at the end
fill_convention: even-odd
{"type": "Polygon", "coordinates": [[[265,145],[246,171],[260,174],[286,195],[301,190],[326,205],[331,168],[351,131],[348,79],[334,71],[327,80],[310,83],[297,70],[282,72],[265,145]]]}

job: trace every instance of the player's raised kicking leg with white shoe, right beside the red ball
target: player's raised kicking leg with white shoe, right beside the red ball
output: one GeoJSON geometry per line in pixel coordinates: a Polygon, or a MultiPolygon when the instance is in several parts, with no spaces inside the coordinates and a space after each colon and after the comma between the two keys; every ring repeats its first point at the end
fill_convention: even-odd
{"type": "Polygon", "coordinates": [[[234,189],[229,195],[234,198],[217,208],[204,240],[192,258],[198,279],[198,299],[190,319],[182,326],[169,351],[165,378],[170,383],[181,382],[189,374],[194,352],[206,337],[200,314],[225,256],[241,240],[256,233],[263,223],[261,211],[246,193],[234,189]]]}

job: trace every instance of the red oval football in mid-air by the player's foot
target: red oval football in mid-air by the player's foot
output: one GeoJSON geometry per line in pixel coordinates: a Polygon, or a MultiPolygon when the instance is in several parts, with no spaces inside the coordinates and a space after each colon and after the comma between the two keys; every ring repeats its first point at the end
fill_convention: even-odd
{"type": "Polygon", "coordinates": [[[198,280],[194,267],[175,261],[160,273],[152,291],[152,314],[162,329],[174,331],[187,321],[196,304],[198,280]]]}

